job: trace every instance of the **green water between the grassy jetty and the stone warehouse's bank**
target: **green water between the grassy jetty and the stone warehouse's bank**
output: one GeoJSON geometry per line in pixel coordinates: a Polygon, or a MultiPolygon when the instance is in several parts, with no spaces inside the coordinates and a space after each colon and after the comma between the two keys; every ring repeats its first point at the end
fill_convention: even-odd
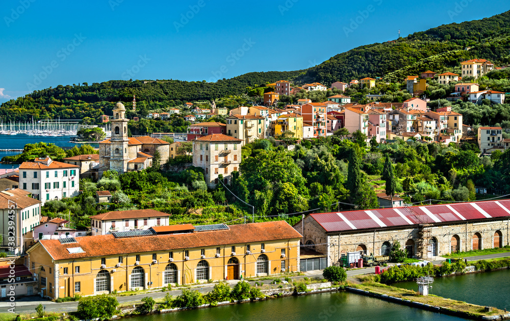
{"type": "MultiPolygon", "coordinates": [[[[393,285],[418,290],[416,282],[393,285]]],[[[434,278],[430,293],[443,298],[508,310],[510,309],[510,270],[434,278]]]]}

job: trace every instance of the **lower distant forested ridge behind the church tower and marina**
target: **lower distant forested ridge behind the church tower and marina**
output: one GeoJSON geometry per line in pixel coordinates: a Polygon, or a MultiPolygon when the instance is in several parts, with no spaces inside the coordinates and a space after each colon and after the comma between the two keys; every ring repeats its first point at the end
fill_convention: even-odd
{"type": "Polygon", "coordinates": [[[110,114],[112,102],[130,102],[135,94],[137,100],[148,110],[167,109],[187,101],[212,100],[229,95],[246,93],[246,87],[264,86],[281,79],[293,79],[297,71],[250,72],[216,83],[183,82],[178,80],[109,81],[77,85],[59,85],[34,91],[25,97],[12,99],[0,106],[4,121],[28,121],[32,119],[97,119],[110,114]]]}

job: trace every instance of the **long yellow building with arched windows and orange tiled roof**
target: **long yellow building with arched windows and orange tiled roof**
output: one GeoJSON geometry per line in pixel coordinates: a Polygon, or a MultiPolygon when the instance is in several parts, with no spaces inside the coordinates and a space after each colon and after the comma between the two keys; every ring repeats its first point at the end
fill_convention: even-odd
{"type": "Polygon", "coordinates": [[[56,299],[299,271],[301,234],[285,221],[149,231],[40,240],[28,251],[37,292],[56,299]]]}

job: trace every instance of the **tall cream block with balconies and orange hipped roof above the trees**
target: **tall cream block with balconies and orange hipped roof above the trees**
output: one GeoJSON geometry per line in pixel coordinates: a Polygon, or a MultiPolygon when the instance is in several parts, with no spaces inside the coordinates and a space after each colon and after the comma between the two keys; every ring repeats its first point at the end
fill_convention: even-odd
{"type": "Polygon", "coordinates": [[[225,184],[231,182],[232,172],[239,171],[243,142],[223,134],[203,136],[193,141],[193,166],[203,168],[209,187],[214,188],[219,183],[220,174],[225,184]]]}

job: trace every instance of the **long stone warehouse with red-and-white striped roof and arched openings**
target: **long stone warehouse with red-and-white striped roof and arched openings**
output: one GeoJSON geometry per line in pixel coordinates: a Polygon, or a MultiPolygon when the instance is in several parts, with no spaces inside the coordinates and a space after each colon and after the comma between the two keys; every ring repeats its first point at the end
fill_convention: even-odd
{"type": "MultiPolygon", "coordinates": [[[[433,259],[456,251],[508,245],[510,200],[313,213],[294,228],[308,260],[336,265],[342,254],[388,255],[398,240],[409,257],[433,259]]],[[[305,262],[301,260],[301,271],[305,262]]],[[[322,269],[308,264],[308,270],[322,269]]]]}

